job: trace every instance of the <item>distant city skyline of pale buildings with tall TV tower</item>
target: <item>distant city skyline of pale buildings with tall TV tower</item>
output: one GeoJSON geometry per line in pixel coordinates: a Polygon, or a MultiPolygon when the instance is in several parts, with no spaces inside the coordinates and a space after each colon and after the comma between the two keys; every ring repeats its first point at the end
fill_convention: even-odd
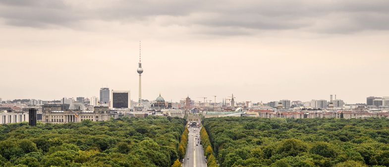
{"type": "Polygon", "coordinates": [[[28,121],[28,110],[36,109],[37,121],[45,123],[68,123],[90,121],[107,121],[121,116],[146,117],[171,116],[183,118],[186,114],[205,117],[220,116],[254,116],[262,118],[367,118],[388,117],[389,97],[367,97],[366,104],[346,104],[330,95],[328,100],[311,100],[308,102],[282,99],[268,103],[238,101],[233,94],[217,100],[212,98],[189,96],[179,102],[168,102],[159,94],[155,100],[142,99],[142,73],[144,72],[139,56],[137,73],[139,75],[139,96],[131,100],[130,90],[111,90],[100,88],[99,97],[63,97],[54,101],[35,99],[18,99],[3,101],[0,98],[0,123],[17,123],[28,121]],[[207,100],[208,99],[208,100],[207,100]]]}

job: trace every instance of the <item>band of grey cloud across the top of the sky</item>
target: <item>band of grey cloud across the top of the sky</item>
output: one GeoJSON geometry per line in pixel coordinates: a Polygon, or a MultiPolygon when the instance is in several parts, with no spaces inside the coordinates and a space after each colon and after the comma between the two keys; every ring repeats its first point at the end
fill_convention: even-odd
{"type": "MultiPolygon", "coordinates": [[[[167,15],[185,18],[181,25],[209,27],[194,32],[216,35],[290,29],[319,33],[389,30],[388,0],[122,0],[100,6],[70,5],[68,2],[0,0],[0,17],[10,25],[42,28],[72,27],[94,19],[152,22],[153,19],[147,18],[167,15]],[[348,21],[340,22],[340,18],[348,21]]],[[[170,20],[170,24],[176,24],[175,20],[170,20]]]]}

